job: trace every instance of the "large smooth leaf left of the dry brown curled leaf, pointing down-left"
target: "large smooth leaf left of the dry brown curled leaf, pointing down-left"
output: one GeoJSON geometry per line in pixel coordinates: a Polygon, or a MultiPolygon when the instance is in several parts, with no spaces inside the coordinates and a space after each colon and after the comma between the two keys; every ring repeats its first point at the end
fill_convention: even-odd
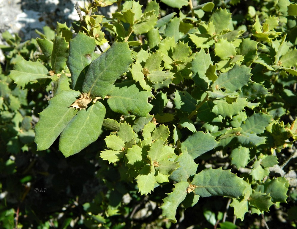
{"type": "Polygon", "coordinates": [[[78,110],[70,109],[69,105],[79,94],[78,91],[62,91],[49,100],[48,107],[39,114],[40,119],[35,126],[37,150],[48,149],[76,115],[78,110]]]}

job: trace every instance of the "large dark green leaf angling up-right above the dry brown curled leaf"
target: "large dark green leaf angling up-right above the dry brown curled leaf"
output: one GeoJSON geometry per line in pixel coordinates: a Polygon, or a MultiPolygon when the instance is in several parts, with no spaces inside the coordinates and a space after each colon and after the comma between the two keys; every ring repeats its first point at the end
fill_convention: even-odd
{"type": "Polygon", "coordinates": [[[104,98],[112,89],[116,79],[129,69],[131,51],[126,42],[115,42],[89,65],[83,82],[83,92],[104,98]]]}

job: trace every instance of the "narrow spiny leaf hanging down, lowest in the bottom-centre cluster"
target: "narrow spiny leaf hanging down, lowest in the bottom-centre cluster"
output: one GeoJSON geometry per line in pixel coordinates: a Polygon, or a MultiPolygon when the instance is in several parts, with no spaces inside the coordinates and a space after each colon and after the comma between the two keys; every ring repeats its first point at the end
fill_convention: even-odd
{"type": "Polygon", "coordinates": [[[167,197],[163,199],[164,203],[160,208],[162,209],[162,216],[176,223],[176,209],[178,205],[186,198],[186,191],[189,183],[186,181],[181,181],[176,183],[174,186],[175,188],[173,189],[173,192],[167,194],[167,197]]]}

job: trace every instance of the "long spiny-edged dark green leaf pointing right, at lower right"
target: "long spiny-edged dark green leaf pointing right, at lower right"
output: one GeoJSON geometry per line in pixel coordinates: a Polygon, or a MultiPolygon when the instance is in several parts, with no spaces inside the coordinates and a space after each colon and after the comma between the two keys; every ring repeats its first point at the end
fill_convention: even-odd
{"type": "Polygon", "coordinates": [[[243,195],[249,184],[237,177],[236,174],[231,173],[230,170],[223,170],[222,167],[210,168],[195,174],[191,182],[196,186],[194,193],[201,197],[230,196],[238,198],[243,195]]]}

